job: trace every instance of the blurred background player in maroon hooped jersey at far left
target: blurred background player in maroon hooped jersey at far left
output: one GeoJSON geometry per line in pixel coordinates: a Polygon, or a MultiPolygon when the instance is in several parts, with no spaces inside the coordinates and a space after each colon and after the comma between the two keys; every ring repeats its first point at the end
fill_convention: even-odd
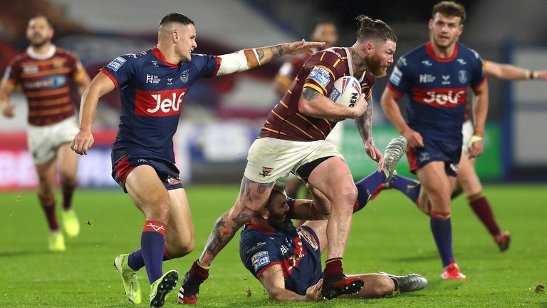
{"type": "Polygon", "coordinates": [[[37,15],[28,21],[26,38],[30,46],[9,63],[1,81],[0,108],[8,118],[15,115],[9,96],[21,85],[28,102],[27,140],[38,173],[38,200],[50,230],[48,248],[62,251],[65,241],[55,214],[56,168],[63,192],[63,230],[68,237],[75,237],[80,232],[72,208],[78,155],[71,151],[70,142],[78,126],[70,86],[74,83],[81,95],[89,84],[89,76],[73,53],[51,43],[53,26],[46,16],[37,15]]]}

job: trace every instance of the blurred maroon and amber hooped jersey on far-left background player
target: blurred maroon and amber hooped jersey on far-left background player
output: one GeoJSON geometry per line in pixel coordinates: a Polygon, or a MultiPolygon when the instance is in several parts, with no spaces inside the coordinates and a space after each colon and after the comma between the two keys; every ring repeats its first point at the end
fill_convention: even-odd
{"type": "Polygon", "coordinates": [[[28,102],[28,123],[41,126],[73,116],[70,86],[83,73],[82,64],[69,51],[51,46],[47,54],[38,55],[29,47],[11,60],[4,78],[21,84],[28,102]]]}

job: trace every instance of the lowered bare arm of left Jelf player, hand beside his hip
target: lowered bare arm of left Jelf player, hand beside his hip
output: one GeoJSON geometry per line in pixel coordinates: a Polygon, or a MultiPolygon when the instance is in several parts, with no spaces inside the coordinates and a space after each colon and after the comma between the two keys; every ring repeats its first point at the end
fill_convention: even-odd
{"type": "Polygon", "coordinates": [[[71,144],[71,148],[75,153],[86,155],[88,149],[93,145],[91,124],[95,118],[95,110],[97,109],[99,98],[114,89],[115,84],[113,81],[105,73],[99,72],[93,78],[88,88],[83,91],[82,103],[80,105],[80,132],[75,135],[71,144]]]}

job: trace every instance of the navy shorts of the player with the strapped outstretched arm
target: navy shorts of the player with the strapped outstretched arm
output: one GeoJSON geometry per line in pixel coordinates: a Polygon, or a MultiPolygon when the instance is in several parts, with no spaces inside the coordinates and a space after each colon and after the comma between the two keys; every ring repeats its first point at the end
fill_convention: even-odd
{"type": "Polygon", "coordinates": [[[179,169],[174,164],[153,158],[129,158],[128,156],[124,156],[113,164],[112,177],[123,188],[125,193],[127,193],[125,178],[127,178],[131,170],[140,165],[150,165],[150,167],[154,168],[157,177],[160,178],[167,190],[183,188],[179,177],[179,169]]]}

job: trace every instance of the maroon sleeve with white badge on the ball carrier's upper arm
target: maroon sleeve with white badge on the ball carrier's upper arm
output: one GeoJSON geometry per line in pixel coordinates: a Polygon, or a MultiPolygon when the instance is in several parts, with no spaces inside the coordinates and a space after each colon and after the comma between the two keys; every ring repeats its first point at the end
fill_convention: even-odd
{"type": "Polygon", "coordinates": [[[330,51],[311,56],[306,63],[310,66],[310,73],[303,87],[313,88],[323,96],[327,96],[334,87],[334,81],[343,76],[336,68],[340,62],[341,59],[330,51]]]}

